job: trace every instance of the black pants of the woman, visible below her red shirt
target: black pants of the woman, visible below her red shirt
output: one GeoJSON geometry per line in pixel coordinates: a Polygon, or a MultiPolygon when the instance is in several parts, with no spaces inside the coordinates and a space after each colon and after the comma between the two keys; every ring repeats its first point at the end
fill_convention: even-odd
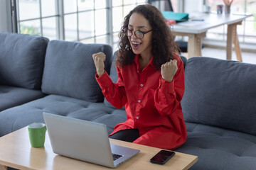
{"type": "Polygon", "coordinates": [[[138,137],[139,137],[138,129],[120,130],[110,136],[110,138],[112,139],[123,140],[126,142],[134,142],[134,140],[137,140],[138,137]]]}

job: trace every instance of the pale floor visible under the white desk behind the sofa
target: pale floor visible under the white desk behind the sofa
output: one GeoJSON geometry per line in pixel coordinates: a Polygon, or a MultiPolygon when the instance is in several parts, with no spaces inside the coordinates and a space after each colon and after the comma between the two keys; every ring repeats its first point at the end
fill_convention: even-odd
{"type": "MultiPolygon", "coordinates": [[[[187,53],[183,53],[183,56],[187,57],[187,53]]],[[[213,47],[204,47],[202,49],[203,57],[213,57],[218,59],[226,59],[226,52],[224,49],[218,49],[213,47]]],[[[232,52],[232,60],[237,60],[235,51],[232,52]]],[[[256,64],[256,52],[242,52],[242,62],[256,64]]]]}

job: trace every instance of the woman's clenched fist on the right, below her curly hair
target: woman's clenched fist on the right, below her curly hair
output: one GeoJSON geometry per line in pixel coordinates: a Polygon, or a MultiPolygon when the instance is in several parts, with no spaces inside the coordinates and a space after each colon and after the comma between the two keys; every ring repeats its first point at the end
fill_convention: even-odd
{"type": "Polygon", "coordinates": [[[177,70],[177,60],[171,60],[161,65],[161,76],[166,81],[173,81],[177,70]]]}

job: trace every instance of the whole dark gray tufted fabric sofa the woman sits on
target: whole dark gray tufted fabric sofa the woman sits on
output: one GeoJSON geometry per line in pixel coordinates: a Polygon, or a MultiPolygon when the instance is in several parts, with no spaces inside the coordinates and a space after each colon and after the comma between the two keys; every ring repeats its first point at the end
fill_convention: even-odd
{"type": "MultiPolygon", "coordinates": [[[[109,45],[0,33],[0,137],[43,122],[43,112],[104,123],[109,133],[126,120],[95,81],[95,52],[106,54],[117,81],[109,45]]],[[[176,151],[198,156],[191,169],[256,169],[256,65],[209,57],[184,64],[188,137],[176,151]]]]}

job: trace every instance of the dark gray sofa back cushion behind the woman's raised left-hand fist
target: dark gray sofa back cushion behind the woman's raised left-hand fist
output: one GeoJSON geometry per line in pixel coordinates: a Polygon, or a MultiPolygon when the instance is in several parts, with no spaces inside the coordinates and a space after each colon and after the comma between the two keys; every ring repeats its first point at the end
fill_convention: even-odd
{"type": "Polygon", "coordinates": [[[48,43],[43,71],[42,91],[85,101],[103,101],[103,94],[95,79],[96,69],[92,54],[104,52],[105,70],[110,72],[112,47],[52,40],[48,43]]]}

